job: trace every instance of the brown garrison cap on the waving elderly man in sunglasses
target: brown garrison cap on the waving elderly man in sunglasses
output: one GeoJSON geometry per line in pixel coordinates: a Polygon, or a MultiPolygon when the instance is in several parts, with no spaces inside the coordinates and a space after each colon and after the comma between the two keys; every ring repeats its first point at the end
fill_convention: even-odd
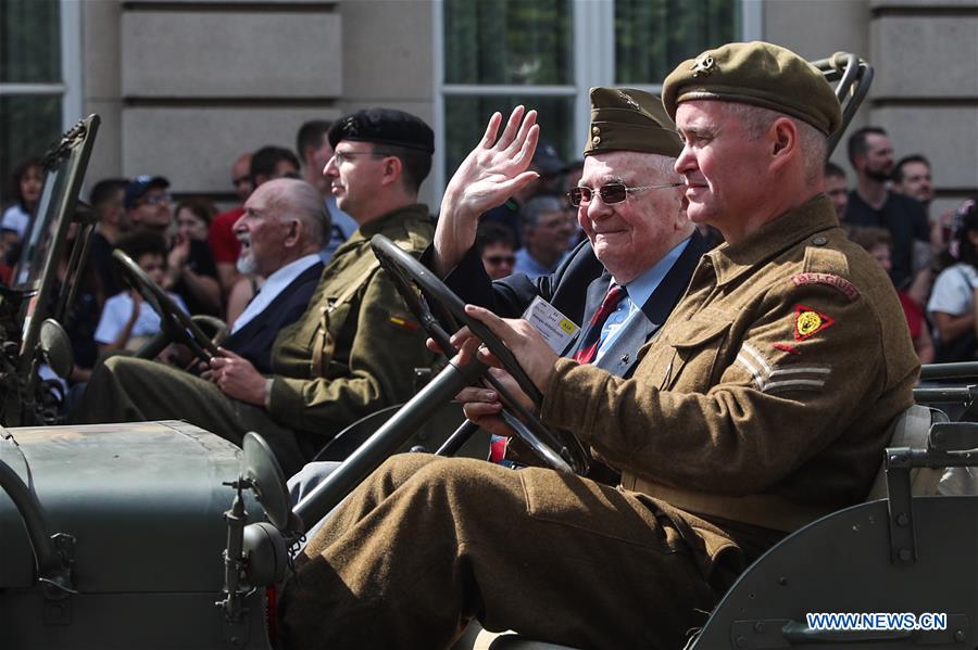
{"type": "Polygon", "coordinates": [[[654,94],[631,88],[591,88],[591,126],[585,155],[638,151],[677,157],[682,142],[654,94]]]}

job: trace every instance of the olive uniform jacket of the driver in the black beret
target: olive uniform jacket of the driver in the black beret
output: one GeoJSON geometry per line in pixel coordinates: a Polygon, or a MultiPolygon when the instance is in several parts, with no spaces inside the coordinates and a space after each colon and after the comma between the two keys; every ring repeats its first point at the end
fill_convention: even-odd
{"type": "Polygon", "coordinates": [[[417,256],[434,232],[427,207],[410,205],[365,224],[336,250],[309,309],[272,348],[268,410],[279,424],[315,434],[322,446],[355,420],[414,395],[413,370],[430,366],[434,355],[379,268],[371,238],[383,234],[417,256]]]}

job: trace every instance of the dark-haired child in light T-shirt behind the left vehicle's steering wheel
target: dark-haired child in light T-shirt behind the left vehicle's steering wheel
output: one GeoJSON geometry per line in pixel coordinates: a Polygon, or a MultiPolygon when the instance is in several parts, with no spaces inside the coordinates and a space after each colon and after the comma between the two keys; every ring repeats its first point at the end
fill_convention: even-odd
{"type": "MultiPolygon", "coordinates": [[[[135,232],[118,242],[122,248],[139,265],[150,279],[161,284],[166,271],[166,244],[163,238],[153,232],[135,232]]],[[[187,311],[184,301],[174,293],[168,293],[176,305],[187,311]]],[[[105,301],[102,317],[96,328],[95,340],[99,344],[99,354],[118,349],[137,351],[151,336],[160,331],[160,317],[153,308],[146,304],[135,289],[123,291],[105,301]]]]}

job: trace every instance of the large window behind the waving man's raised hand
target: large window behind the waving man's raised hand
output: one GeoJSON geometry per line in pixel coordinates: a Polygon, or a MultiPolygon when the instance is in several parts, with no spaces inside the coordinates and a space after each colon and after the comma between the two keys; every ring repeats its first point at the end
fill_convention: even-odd
{"type": "Polygon", "coordinates": [[[563,160],[579,158],[591,86],[659,86],[679,61],[740,39],[743,13],[740,0],[443,0],[440,8],[442,183],[489,115],[509,115],[517,103],[539,111],[541,137],[563,160]]]}

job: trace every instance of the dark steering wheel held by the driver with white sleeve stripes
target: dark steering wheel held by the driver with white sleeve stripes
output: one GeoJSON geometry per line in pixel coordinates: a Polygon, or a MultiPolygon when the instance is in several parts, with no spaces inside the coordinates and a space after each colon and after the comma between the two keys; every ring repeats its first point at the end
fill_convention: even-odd
{"type": "MultiPolygon", "coordinates": [[[[431,313],[431,307],[437,309],[441,321],[454,330],[459,329],[459,322],[467,326],[472,333],[496,355],[503,369],[513,375],[534,405],[540,408],[543,404],[543,395],[519,366],[516,357],[489,328],[465,314],[465,303],[454,292],[423,264],[386,237],[375,234],[371,240],[371,247],[380,262],[380,266],[390,273],[394,285],[408,303],[408,307],[441,349],[452,349],[450,334],[431,313]]],[[[502,398],[503,419],[537,456],[555,470],[573,471],[578,474],[587,473],[590,457],[580,441],[566,431],[554,430],[544,424],[534,412],[514,399],[491,373],[487,372],[485,380],[502,398]],[[506,410],[519,416],[519,419],[506,410]]]]}

